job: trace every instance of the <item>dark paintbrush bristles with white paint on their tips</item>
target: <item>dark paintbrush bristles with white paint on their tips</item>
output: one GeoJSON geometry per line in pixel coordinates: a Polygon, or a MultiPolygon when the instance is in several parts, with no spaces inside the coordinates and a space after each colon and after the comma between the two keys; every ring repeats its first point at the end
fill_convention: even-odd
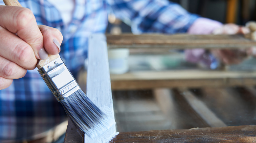
{"type": "Polygon", "coordinates": [[[107,116],[81,89],[60,102],[76,126],[88,136],[94,137],[108,128],[107,116]]]}

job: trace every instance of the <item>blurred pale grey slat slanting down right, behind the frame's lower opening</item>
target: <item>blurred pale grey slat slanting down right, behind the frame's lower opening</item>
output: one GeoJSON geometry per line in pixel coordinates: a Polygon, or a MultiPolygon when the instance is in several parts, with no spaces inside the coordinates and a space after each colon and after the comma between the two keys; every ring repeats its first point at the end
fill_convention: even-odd
{"type": "Polygon", "coordinates": [[[185,88],[180,88],[179,93],[190,105],[190,107],[210,126],[226,127],[227,125],[219,119],[202,101],[185,88]]]}

